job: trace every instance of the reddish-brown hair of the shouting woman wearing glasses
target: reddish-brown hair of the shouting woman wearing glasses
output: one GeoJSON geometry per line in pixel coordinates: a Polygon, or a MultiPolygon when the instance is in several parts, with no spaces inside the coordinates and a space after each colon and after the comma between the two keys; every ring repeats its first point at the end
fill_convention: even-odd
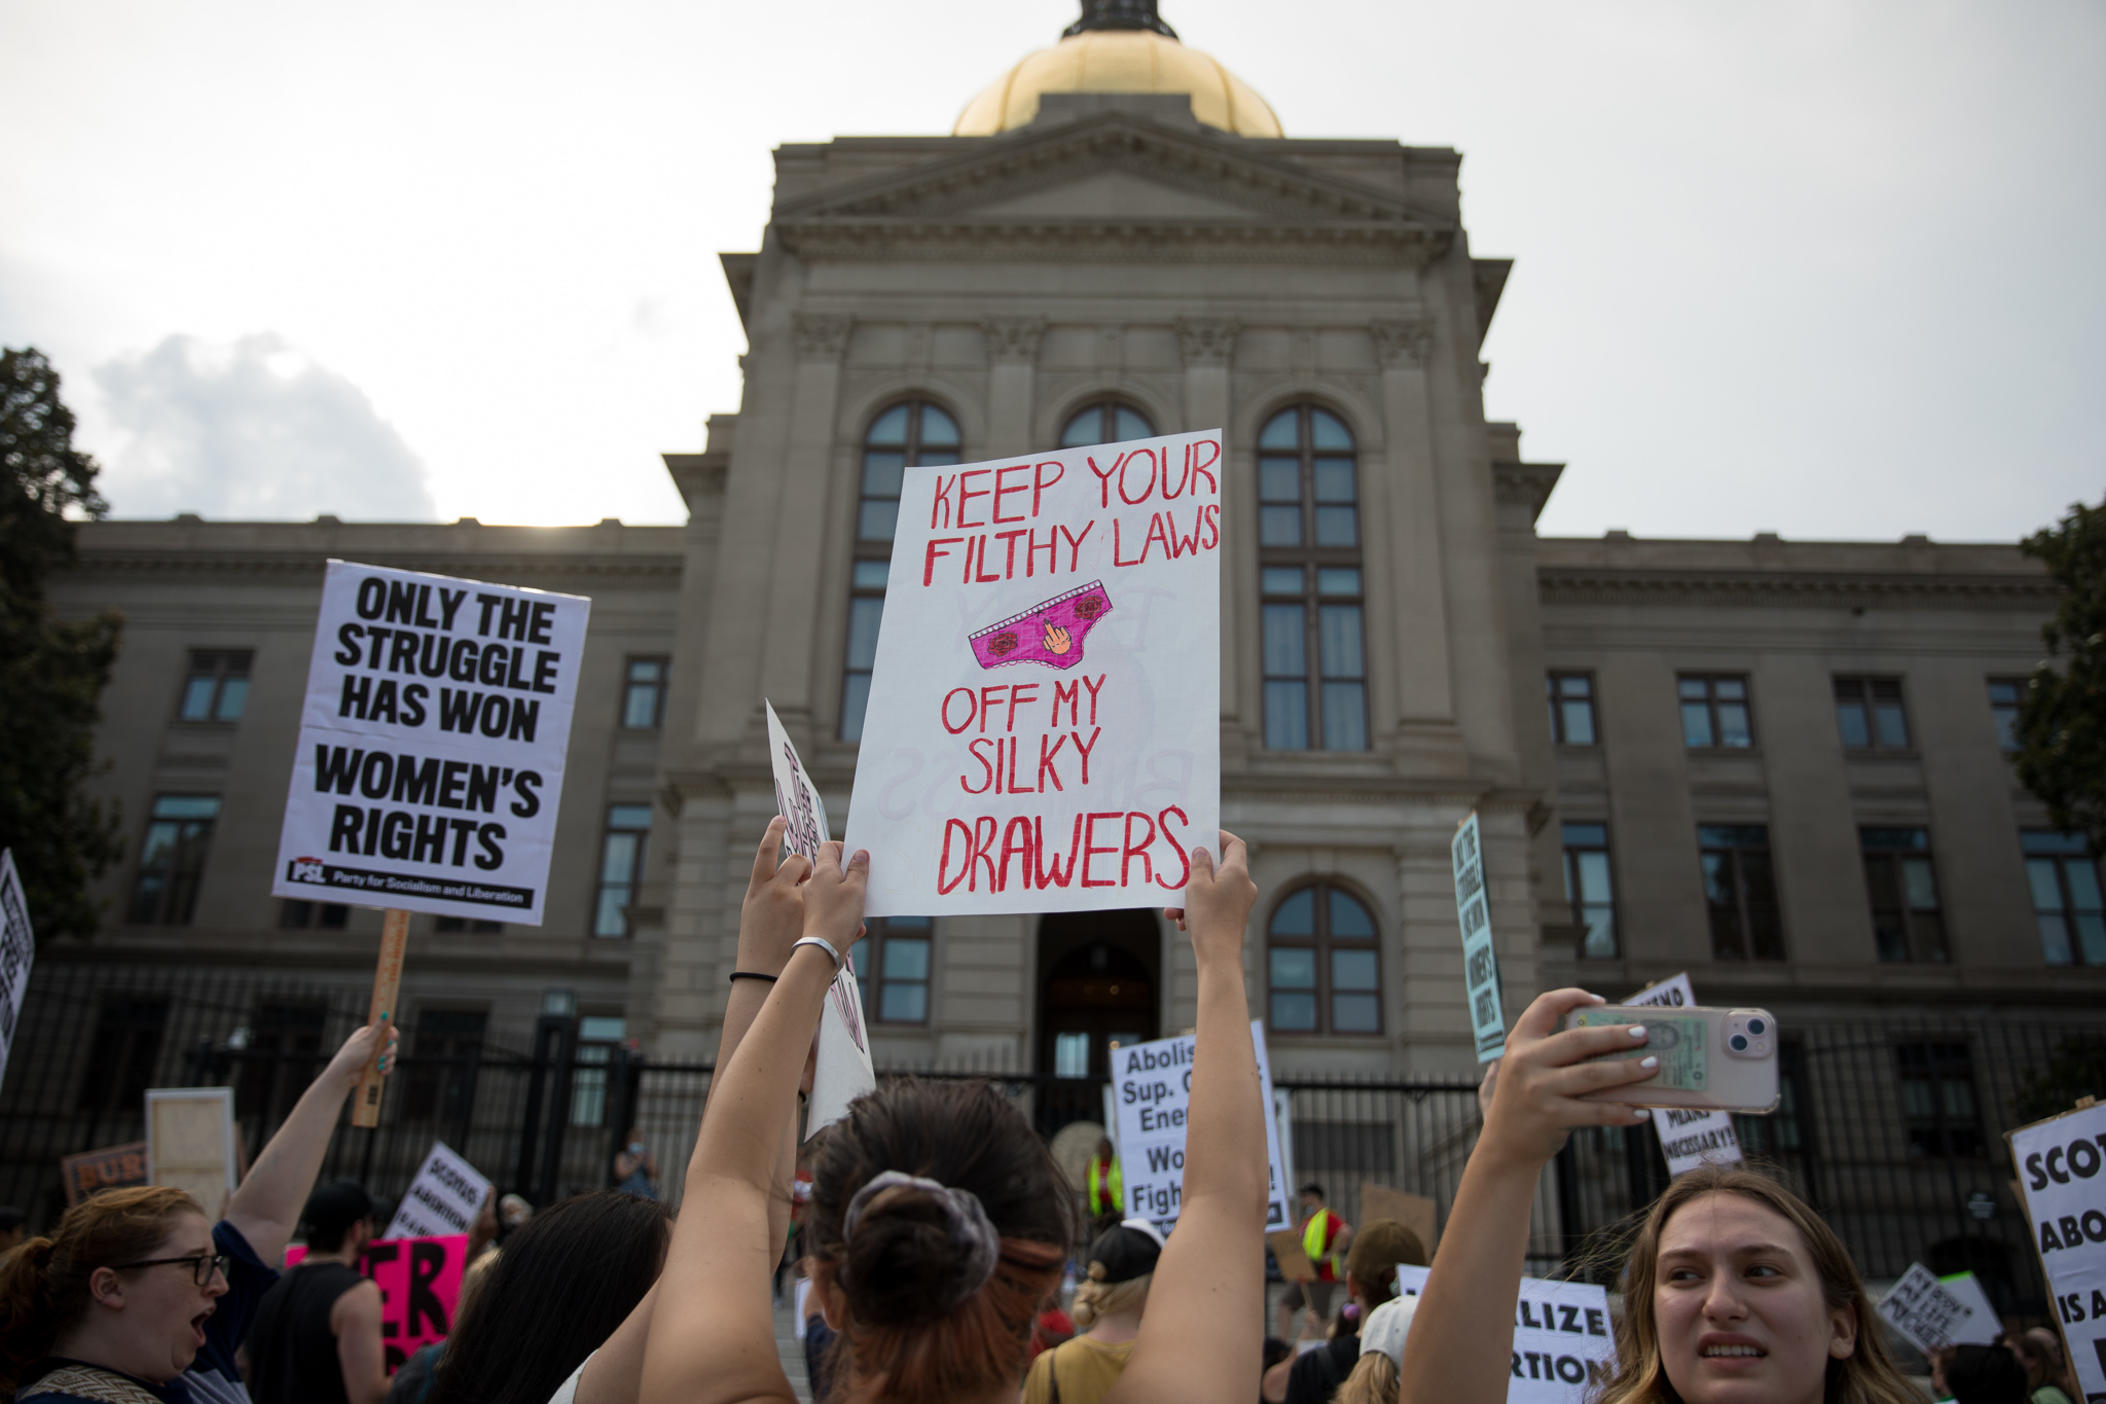
{"type": "Polygon", "coordinates": [[[204,1208],[162,1185],[103,1189],[65,1210],[51,1238],[0,1259],[0,1393],[82,1318],[95,1269],[154,1257],[177,1215],[202,1219],[204,1208]]]}

